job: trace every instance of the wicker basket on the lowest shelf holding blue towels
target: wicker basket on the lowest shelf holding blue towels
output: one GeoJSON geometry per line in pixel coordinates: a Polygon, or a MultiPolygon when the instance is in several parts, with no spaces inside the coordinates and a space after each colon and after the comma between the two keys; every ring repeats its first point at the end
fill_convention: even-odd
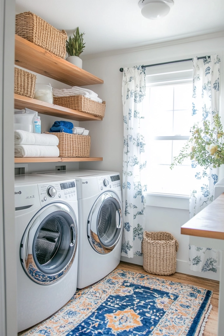
{"type": "Polygon", "coordinates": [[[69,134],[65,132],[48,133],[56,135],[59,139],[58,149],[59,156],[68,157],[89,157],[90,154],[90,139],[89,135],[69,134]]]}

